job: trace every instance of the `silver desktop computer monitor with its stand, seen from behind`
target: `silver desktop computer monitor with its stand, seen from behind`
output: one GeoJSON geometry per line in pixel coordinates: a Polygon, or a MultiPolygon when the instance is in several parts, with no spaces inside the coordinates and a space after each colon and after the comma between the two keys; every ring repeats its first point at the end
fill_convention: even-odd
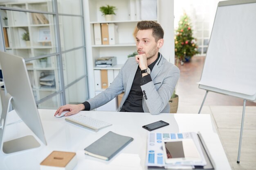
{"type": "Polygon", "coordinates": [[[3,105],[0,119],[0,144],[2,152],[6,154],[16,153],[40,146],[39,142],[32,135],[3,142],[10,102],[22,121],[34,132],[38,139],[46,145],[43,126],[36,107],[25,60],[22,57],[0,51],[0,65],[2,68],[4,87],[7,91],[5,96],[1,96],[2,99],[5,98],[7,101],[5,105],[3,105]]]}

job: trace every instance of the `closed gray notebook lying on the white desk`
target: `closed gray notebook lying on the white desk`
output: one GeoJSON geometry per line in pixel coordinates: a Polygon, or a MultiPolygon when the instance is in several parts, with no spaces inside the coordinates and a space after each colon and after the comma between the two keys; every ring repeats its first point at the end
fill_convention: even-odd
{"type": "Polygon", "coordinates": [[[86,147],[84,149],[85,154],[104,160],[110,160],[132,140],[132,137],[109,131],[90,146],[86,147]]]}

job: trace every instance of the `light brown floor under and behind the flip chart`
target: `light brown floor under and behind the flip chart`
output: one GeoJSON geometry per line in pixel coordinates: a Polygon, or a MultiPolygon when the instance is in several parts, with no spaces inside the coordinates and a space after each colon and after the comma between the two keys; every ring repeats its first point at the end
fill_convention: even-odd
{"type": "MultiPolygon", "coordinates": [[[[179,95],[177,113],[198,113],[205,90],[199,89],[204,57],[193,57],[191,62],[178,65],[180,79],[176,94],[179,95]]],[[[256,170],[256,103],[246,102],[240,163],[236,163],[243,99],[209,92],[202,114],[211,114],[218,129],[222,146],[232,169],[256,170]]]]}

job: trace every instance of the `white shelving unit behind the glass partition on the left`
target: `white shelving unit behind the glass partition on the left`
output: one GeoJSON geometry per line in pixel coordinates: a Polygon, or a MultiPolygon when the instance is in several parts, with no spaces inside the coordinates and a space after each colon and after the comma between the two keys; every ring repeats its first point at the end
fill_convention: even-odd
{"type": "MultiPolygon", "coordinates": [[[[52,12],[51,1],[31,3],[6,3],[0,5],[5,7],[52,12]]],[[[1,14],[8,19],[8,23],[3,26],[7,30],[7,39],[9,46],[6,46],[6,50],[8,53],[15,54],[26,59],[56,52],[56,44],[54,40],[54,22],[52,15],[40,14],[43,15],[49,23],[43,24],[42,22],[39,22],[38,24],[35,22],[32,13],[20,11],[1,11],[3,11],[1,14]],[[39,38],[41,36],[40,33],[42,33],[43,29],[49,31],[51,37],[50,40],[45,42],[40,41],[39,38]],[[29,45],[27,45],[25,41],[21,39],[21,35],[24,32],[29,33],[29,45]]],[[[45,64],[40,62],[40,60],[29,61],[26,64],[36,101],[46,96],[49,96],[50,94],[56,92],[59,89],[56,57],[47,57],[47,61],[45,64]],[[40,76],[42,76],[43,72],[45,74],[54,75],[55,85],[50,87],[40,84],[40,76]]],[[[59,105],[60,101],[56,97],[56,100],[43,102],[38,107],[44,109],[53,109],[59,105]]]]}

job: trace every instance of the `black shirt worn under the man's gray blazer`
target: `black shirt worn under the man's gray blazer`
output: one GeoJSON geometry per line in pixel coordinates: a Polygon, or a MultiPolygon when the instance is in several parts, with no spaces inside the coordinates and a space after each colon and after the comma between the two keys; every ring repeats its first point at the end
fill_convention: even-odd
{"type": "MultiPolygon", "coordinates": [[[[155,63],[159,59],[159,56],[160,53],[158,53],[157,59],[153,63],[148,65],[148,68],[150,68],[151,71],[153,70],[155,63]]],[[[120,110],[122,112],[144,112],[142,107],[143,92],[141,90],[141,85],[145,85],[146,83],[152,81],[152,79],[150,74],[142,77],[140,71],[141,69],[138,66],[128,98],[126,99],[124,105],[120,110]]]]}

